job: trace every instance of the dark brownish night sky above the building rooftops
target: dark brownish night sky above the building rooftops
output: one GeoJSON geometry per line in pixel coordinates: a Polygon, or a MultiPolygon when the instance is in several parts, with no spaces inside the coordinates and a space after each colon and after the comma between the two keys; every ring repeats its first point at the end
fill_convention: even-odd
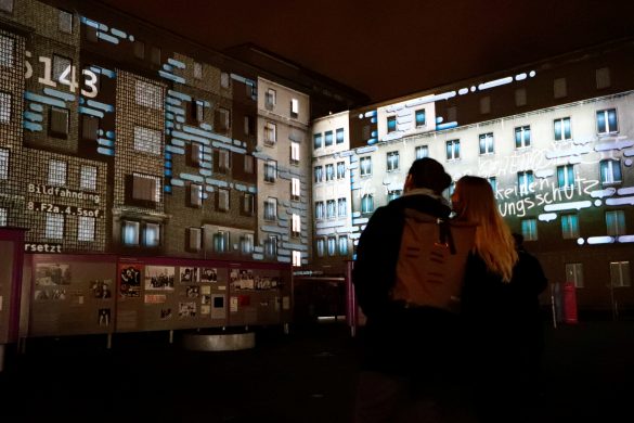
{"type": "Polygon", "coordinates": [[[253,42],[373,102],[634,36],[634,0],[101,1],[218,51],[253,42]]]}

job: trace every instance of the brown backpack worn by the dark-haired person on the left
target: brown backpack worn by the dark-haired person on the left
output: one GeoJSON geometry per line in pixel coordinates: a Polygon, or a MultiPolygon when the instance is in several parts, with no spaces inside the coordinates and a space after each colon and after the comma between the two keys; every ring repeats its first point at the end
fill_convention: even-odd
{"type": "Polygon", "coordinates": [[[457,311],[476,225],[404,210],[404,226],[391,297],[411,306],[457,311]]]}

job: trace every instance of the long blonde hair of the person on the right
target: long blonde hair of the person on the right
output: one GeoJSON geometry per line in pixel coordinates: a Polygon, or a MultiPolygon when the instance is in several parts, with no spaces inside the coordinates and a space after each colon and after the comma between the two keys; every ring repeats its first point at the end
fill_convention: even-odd
{"type": "Polygon", "coordinates": [[[490,271],[500,274],[504,282],[510,281],[518,259],[515,240],[497,210],[489,181],[465,176],[456,182],[453,197],[458,218],[478,223],[474,252],[490,271]]]}

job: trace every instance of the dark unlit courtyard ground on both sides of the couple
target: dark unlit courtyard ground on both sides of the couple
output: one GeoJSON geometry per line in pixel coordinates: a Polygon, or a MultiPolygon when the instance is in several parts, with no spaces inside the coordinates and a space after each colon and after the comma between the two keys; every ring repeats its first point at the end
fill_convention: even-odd
{"type": "MultiPolygon", "coordinates": [[[[634,322],[547,332],[535,422],[630,421],[634,322]],[[617,413],[630,418],[616,419],[617,413]]],[[[257,332],[255,349],[194,352],[168,335],[29,339],[0,373],[0,422],[351,421],[358,345],[341,324],[257,332]]]]}

